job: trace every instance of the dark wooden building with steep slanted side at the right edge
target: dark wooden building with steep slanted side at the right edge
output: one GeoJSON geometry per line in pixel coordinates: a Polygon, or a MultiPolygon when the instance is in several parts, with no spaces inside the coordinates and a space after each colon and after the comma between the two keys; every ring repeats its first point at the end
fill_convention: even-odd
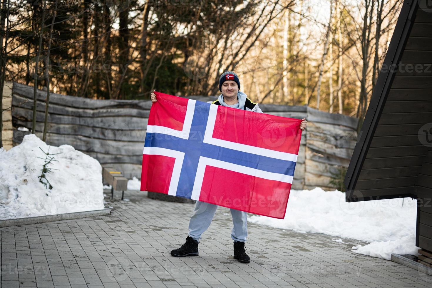
{"type": "MultiPolygon", "coordinates": [[[[416,246],[430,256],[432,5],[428,7],[428,2],[403,3],[344,183],[347,202],[418,199],[416,246]]],[[[419,255],[419,260],[424,258],[419,255]]]]}

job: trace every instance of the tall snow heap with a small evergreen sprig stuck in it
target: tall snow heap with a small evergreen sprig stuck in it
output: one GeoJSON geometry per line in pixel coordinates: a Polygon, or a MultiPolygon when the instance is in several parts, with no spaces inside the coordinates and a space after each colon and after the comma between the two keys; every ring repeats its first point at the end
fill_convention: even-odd
{"type": "Polygon", "coordinates": [[[48,146],[35,134],[9,151],[0,149],[0,219],[104,209],[102,167],[70,145],[48,146]],[[40,148],[39,148],[40,147],[40,148]],[[48,189],[39,182],[46,155],[54,155],[48,189]],[[40,158],[43,159],[40,159],[40,158]]]}

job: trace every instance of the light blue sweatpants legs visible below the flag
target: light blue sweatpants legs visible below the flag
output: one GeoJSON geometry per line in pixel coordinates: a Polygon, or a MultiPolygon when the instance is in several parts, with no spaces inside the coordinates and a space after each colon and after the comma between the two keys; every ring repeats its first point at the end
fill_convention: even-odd
{"type": "MultiPolygon", "coordinates": [[[[215,215],[217,205],[197,201],[195,203],[195,210],[189,221],[189,236],[196,241],[200,241],[201,234],[209,228],[210,223],[215,215]]],[[[240,210],[231,209],[232,228],[231,238],[236,241],[246,242],[248,237],[248,221],[246,219],[247,213],[240,210]]]]}

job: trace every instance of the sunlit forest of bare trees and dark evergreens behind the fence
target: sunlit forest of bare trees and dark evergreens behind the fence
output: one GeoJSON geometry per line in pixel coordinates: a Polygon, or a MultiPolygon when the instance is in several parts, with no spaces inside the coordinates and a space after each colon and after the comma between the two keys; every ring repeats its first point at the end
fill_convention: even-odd
{"type": "Polygon", "coordinates": [[[14,81],[48,100],[219,95],[234,70],[253,101],[355,116],[359,131],[403,1],[0,3],[0,92],[14,81]]]}

